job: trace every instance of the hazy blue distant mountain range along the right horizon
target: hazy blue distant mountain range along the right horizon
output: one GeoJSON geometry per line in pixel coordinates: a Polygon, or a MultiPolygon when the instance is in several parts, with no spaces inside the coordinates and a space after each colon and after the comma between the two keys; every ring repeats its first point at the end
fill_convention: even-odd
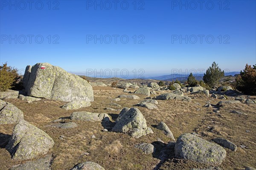
{"type": "MultiPolygon", "coordinates": [[[[240,74],[238,71],[233,71],[229,73],[225,73],[225,76],[235,76],[236,74],[240,74]]],[[[155,79],[155,80],[164,80],[164,81],[172,81],[172,80],[179,80],[180,82],[184,82],[188,78],[188,74],[169,74],[163,76],[155,76],[155,77],[144,77],[143,79],[155,79]]],[[[204,74],[194,74],[195,79],[198,81],[203,79],[204,74]]]]}

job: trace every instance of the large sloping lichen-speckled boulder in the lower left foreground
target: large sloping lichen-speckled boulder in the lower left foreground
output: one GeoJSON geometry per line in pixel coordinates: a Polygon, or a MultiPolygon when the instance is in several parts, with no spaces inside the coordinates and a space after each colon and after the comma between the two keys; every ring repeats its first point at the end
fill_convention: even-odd
{"type": "Polygon", "coordinates": [[[26,160],[46,154],[53,145],[54,141],[47,133],[20,120],[13,129],[6,150],[12,155],[12,159],[26,160]]]}

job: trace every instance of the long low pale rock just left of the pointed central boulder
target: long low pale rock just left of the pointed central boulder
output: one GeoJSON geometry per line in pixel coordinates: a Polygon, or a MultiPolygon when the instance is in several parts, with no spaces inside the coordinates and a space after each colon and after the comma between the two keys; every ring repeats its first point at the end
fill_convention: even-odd
{"type": "Polygon", "coordinates": [[[110,117],[107,113],[91,113],[87,111],[73,112],[70,116],[71,120],[80,120],[80,121],[107,121],[110,120],[110,117]]]}

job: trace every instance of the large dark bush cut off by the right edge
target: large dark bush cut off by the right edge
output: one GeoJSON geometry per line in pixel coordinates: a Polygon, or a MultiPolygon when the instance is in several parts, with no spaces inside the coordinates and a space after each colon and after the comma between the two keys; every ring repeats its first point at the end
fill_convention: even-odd
{"type": "Polygon", "coordinates": [[[244,94],[256,95],[256,65],[246,64],[244,71],[236,77],[236,89],[244,94]]]}

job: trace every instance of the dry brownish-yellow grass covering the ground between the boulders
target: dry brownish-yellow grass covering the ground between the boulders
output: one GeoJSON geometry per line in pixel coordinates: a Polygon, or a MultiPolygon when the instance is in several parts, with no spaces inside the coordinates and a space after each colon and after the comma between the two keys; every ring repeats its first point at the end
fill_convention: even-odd
{"type": "MultiPolygon", "coordinates": [[[[116,80],[111,79],[111,82],[113,81],[116,80]]],[[[134,89],[128,90],[134,91],[134,89]]],[[[111,87],[93,87],[93,91],[95,101],[92,102],[92,105],[76,111],[108,113],[115,120],[119,111],[108,111],[104,108],[110,107],[111,99],[127,93],[122,92],[122,89],[111,87]]],[[[160,91],[157,92],[157,95],[166,92],[168,91],[160,91]]],[[[140,96],[138,100],[121,99],[121,101],[115,103],[122,105],[122,107],[137,107],[135,105],[146,97],[138,96],[140,96]]],[[[229,97],[229,99],[233,99],[233,97],[229,97]]],[[[101,122],[75,121],[78,127],[74,129],[47,127],[52,120],[70,116],[73,112],[60,108],[65,102],[47,99],[42,99],[36,103],[26,103],[19,99],[6,101],[20,108],[26,121],[44,130],[55,141],[55,146],[48,152],[54,156],[53,170],[70,170],[75,164],[83,161],[99,163],[105,170],[153,170],[159,164],[160,159],[157,156],[140,152],[137,148],[134,148],[134,145],[142,142],[152,143],[157,141],[157,138],[169,142],[169,138],[155,127],[160,121],[164,121],[169,126],[176,139],[182,133],[196,132],[206,140],[221,137],[235,143],[238,146],[236,152],[226,149],[227,157],[220,166],[223,170],[242,170],[244,166],[256,167],[254,159],[256,155],[255,105],[227,105],[220,108],[220,113],[212,113],[211,109],[202,106],[207,101],[216,104],[220,101],[219,99],[198,96],[192,99],[190,103],[174,100],[158,101],[158,109],[155,110],[138,107],[145,116],[148,127],[151,127],[154,133],[134,139],[127,134],[111,131],[102,132],[101,130],[105,127],[101,122]],[[247,113],[248,116],[230,113],[232,110],[247,113]],[[250,130],[250,132],[247,133],[246,130],[250,130]],[[92,139],[92,135],[95,135],[96,138],[92,139]],[[64,140],[59,139],[60,136],[65,136],[64,140]],[[246,148],[239,147],[241,144],[244,144],[246,148]],[[84,153],[90,154],[84,155],[84,153]]],[[[0,133],[5,136],[11,135],[13,127],[14,125],[0,125],[0,133]]],[[[38,156],[38,158],[40,157],[42,156],[38,156]]],[[[12,160],[6,149],[0,148],[1,170],[7,170],[15,164],[24,162],[26,161],[12,160]]],[[[193,167],[204,167],[204,165],[180,159],[170,159],[161,168],[166,170],[190,170],[193,167]]]]}

